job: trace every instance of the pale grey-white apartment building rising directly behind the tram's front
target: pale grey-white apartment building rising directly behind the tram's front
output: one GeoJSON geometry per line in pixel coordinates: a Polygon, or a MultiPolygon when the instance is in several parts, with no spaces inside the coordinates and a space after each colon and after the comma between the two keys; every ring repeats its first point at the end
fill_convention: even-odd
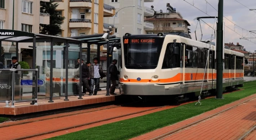
{"type": "Polygon", "coordinates": [[[123,36],[125,33],[143,34],[144,30],[153,30],[151,22],[144,21],[144,16],[153,16],[154,10],[144,6],[144,3],[154,2],[154,0],[104,0],[105,3],[114,6],[116,14],[113,17],[105,18],[104,22],[109,22],[115,26],[115,35],[123,36]],[[133,7],[132,7],[133,6],[133,7]]]}

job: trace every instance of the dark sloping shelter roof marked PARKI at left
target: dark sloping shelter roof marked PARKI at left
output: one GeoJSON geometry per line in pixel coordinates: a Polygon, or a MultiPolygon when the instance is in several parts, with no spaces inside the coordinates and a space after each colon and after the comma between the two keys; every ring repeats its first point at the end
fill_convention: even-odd
{"type": "Polygon", "coordinates": [[[82,42],[74,38],[50,36],[45,34],[29,33],[17,30],[0,29],[0,41],[30,43],[33,42],[34,37],[36,38],[36,42],[51,42],[51,39],[53,42],[82,42]]]}

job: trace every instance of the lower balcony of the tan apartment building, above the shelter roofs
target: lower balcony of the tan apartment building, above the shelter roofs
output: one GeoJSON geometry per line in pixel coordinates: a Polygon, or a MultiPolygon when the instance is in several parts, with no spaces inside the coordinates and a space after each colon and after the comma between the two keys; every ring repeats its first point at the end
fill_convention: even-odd
{"type": "Polygon", "coordinates": [[[70,19],[69,28],[75,29],[91,29],[92,22],[91,19],[70,19]]]}

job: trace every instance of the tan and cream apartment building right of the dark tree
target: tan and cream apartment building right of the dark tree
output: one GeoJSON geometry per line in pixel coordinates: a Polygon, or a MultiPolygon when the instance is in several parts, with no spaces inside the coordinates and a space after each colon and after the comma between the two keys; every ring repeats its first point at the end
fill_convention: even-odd
{"type": "Polygon", "coordinates": [[[107,31],[108,22],[104,17],[112,17],[115,7],[104,4],[103,0],[55,0],[57,10],[65,17],[61,25],[61,37],[99,34],[107,31]],[[104,26],[105,25],[105,26],[104,26]]]}

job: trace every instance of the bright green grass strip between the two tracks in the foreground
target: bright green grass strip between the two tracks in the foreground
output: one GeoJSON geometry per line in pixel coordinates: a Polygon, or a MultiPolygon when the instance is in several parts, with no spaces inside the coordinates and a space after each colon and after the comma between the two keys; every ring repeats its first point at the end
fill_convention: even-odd
{"type": "MultiPolygon", "coordinates": [[[[164,126],[186,120],[193,116],[200,115],[225,104],[237,101],[249,95],[256,90],[256,81],[246,82],[244,90],[225,94],[225,99],[204,99],[201,106],[195,106],[195,103],[185,104],[176,108],[167,109],[151,113],[148,115],[131,118],[128,120],[109,123],[102,126],[92,127],[70,134],[52,137],[49,140],[127,140],[133,137],[145,134],[164,126]]],[[[93,117],[93,116],[92,116],[93,117]]]]}

